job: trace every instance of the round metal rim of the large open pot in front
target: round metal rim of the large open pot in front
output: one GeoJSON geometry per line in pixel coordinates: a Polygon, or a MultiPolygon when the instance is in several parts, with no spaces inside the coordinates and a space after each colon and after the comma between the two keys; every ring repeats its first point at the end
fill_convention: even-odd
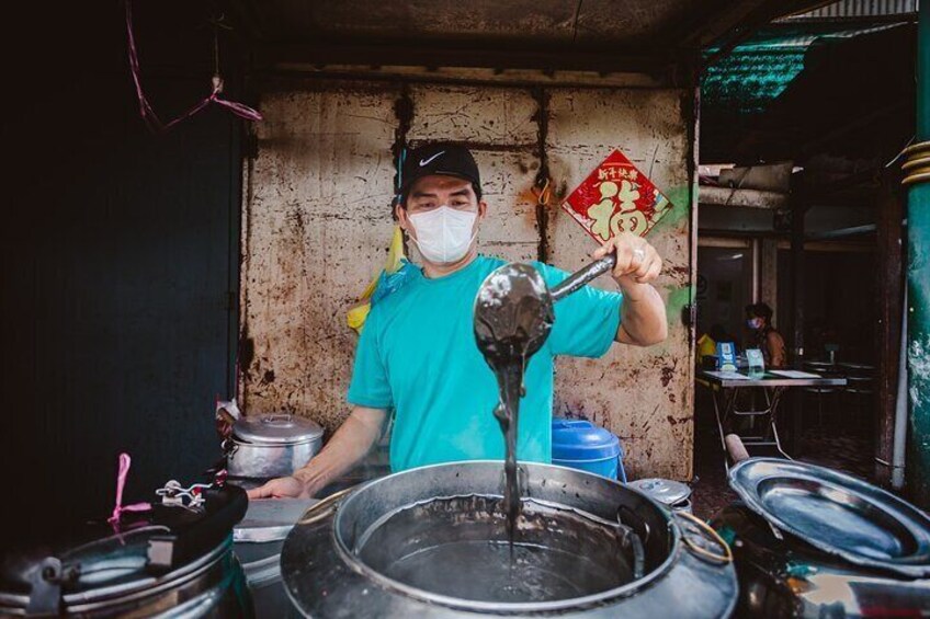
{"type": "MultiPolygon", "coordinates": [[[[462,467],[462,466],[467,467],[469,465],[484,465],[484,463],[498,465],[499,461],[498,460],[466,460],[466,461],[457,461],[457,462],[444,462],[444,463],[439,463],[439,465],[429,465],[427,467],[419,467],[419,468],[416,468],[416,469],[408,469],[406,471],[400,471],[398,473],[394,473],[394,474],[389,475],[389,478],[390,479],[397,479],[398,477],[406,475],[406,474],[418,474],[417,473],[418,471],[423,471],[423,470],[427,470],[427,469],[462,467]]],[[[578,470],[578,469],[571,469],[571,468],[568,468],[568,467],[559,467],[557,465],[543,465],[543,463],[540,463],[540,462],[532,462],[532,463],[534,465],[534,467],[546,467],[546,468],[552,468],[552,469],[560,469],[560,470],[570,471],[572,474],[578,473],[578,474],[582,474],[582,475],[596,477],[599,480],[604,479],[604,478],[600,478],[599,475],[594,475],[593,473],[589,473],[587,471],[581,471],[581,470],[578,470]]],[[[631,595],[635,594],[636,592],[648,587],[656,580],[662,577],[664,575],[666,575],[672,569],[672,566],[679,560],[679,554],[682,551],[682,548],[681,548],[682,547],[681,528],[679,527],[679,525],[674,520],[674,518],[668,513],[667,508],[662,507],[658,502],[656,502],[654,498],[651,498],[650,496],[648,496],[647,494],[645,494],[640,491],[636,491],[634,489],[624,486],[624,485],[620,484],[619,482],[613,482],[613,483],[617,483],[617,485],[620,485],[624,490],[626,490],[628,492],[634,492],[634,493],[643,496],[644,498],[646,498],[648,501],[648,503],[650,503],[654,506],[654,508],[657,509],[659,513],[661,513],[662,516],[666,518],[668,532],[671,536],[671,539],[670,539],[670,542],[669,542],[670,551],[669,551],[668,555],[666,557],[666,559],[659,565],[657,565],[655,569],[653,569],[648,574],[645,574],[642,578],[633,581],[631,583],[626,583],[625,585],[622,585],[620,587],[614,587],[612,589],[608,589],[605,592],[601,592],[601,593],[598,593],[598,594],[587,595],[587,596],[582,596],[582,597],[572,597],[572,598],[558,599],[558,600],[551,600],[551,601],[533,601],[533,603],[528,603],[528,601],[518,601],[518,603],[512,603],[512,601],[511,603],[481,601],[481,600],[463,599],[463,598],[446,596],[446,595],[442,595],[442,594],[435,594],[435,593],[432,593],[432,592],[421,589],[419,587],[413,587],[413,586],[407,585],[407,584],[401,583],[399,581],[396,581],[394,578],[389,578],[388,576],[385,576],[381,572],[373,570],[372,568],[366,565],[364,562],[362,562],[352,552],[352,549],[349,548],[349,545],[345,542],[345,540],[342,539],[342,536],[340,534],[341,527],[339,526],[339,521],[340,521],[341,515],[344,514],[345,506],[351,505],[351,502],[353,500],[358,500],[358,497],[364,491],[370,490],[372,488],[376,488],[379,483],[384,483],[384,481],[387,480],[387,479],[388,478],[379,478],[379,479],[376,479],[376,480],[372,480],[372,481],[359,486],[355,491],[353,491],[351,494],[349,494],[349,496],[347,496],[345,498],[343,498],[341,501],[339,507],[336,511],[336,516],[333,518],[333,526],[332,526],[332,534],[331,534],[332,539],[333,539],[333,546],[336,547],[336,549],[337,549],[339,555],[342,558],[342,560],[345,561],[345,563],[348,565],[350,565],[351,569],[353,569],[354,571],[356,571],[360,574],[371,578],[375,583],[377,583],[377,584],[379,584],[379,585],[382,585],[386,588],[397,591],[398,593],[401,593],[404,595],[408,595],[408,596],[413,597],[413,598],[421,599],[421,600],[427,601],[427,603],[439,604],[439,605],[442,605],[442,606],[445,606],[445,607],[456,608],[456,609],[461,609],[461,610],[483,611],[483,612],[496,611],[496,612],[506,612],[506,614],[551,612],[551,611],[578,609],[578,608],[581,608],[581,607],[594,606],[599,603],[605,603],[605,601],[614,600],[614,599],[617,599],[617,598],[631,596],[631,595]]],[[[608,481],[611,481],[611,480],[608,480],[608,481]]],[[[435,498],[443,498],[443,497],[436,496],[435,498]]],[[[535,500],[535,501],[540,502],[540,500],[535,500]]],[[[555,504],[555,503],[552,503],[552,504],[555,504]]],[[[560,504],[560,505],[566,506],[565,504],[560,504]]]]}

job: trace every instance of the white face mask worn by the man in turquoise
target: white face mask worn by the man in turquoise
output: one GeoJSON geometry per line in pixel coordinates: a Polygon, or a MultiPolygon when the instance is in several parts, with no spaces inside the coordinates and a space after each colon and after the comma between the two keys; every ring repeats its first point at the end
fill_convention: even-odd
{"type": "Polygon", "coordinates": [[[468,253],[472,241],[478,234],[475,226],[477,213],[456,210],[449,206],[440,206],[427,213],[410,216],[410,223],[417,232],[411,239],[423,257],[436,264],[456,262],[468,253]]]}

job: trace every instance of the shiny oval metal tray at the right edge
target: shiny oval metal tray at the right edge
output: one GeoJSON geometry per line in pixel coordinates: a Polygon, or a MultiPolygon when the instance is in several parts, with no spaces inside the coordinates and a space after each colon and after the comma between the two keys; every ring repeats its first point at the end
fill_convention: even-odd
{"type": "Polygon", "coordinates": [[[884,490],[832,469],[750,458],[729,484],[772,525],[851,563],[930,576],[930,518],[884,490]]]}

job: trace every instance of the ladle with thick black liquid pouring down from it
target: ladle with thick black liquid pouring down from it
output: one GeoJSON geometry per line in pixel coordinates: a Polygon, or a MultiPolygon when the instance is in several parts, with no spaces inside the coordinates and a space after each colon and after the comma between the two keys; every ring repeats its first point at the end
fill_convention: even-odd
{"type": "Polygon", "coordinates": [[[511,263],[488,275],[475,298],[475,341],[497,376],[500,391],[500,402],[494,414],[500,423],[507,448],[503,506],[511,546],[520,514],[517,423],[520,398],[524,394],[523,372],[530,357],[542,348],[552,331],[555,322],[553,305],[610,272],[614,265],[616,256],[610,254],[549,290],[538,271],[529,264],[511,263]]]}

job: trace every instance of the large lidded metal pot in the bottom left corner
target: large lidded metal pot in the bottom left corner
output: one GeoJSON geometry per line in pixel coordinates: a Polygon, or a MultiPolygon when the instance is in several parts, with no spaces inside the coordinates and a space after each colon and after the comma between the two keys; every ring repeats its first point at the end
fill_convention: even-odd
{"type": "Polygon", "coordinates": [[[0,617],[251,617],[232,554],[245,492],[205,492],[205,506],[156,505],[125,527],[63,523],[0,553],[0,617]]]}

